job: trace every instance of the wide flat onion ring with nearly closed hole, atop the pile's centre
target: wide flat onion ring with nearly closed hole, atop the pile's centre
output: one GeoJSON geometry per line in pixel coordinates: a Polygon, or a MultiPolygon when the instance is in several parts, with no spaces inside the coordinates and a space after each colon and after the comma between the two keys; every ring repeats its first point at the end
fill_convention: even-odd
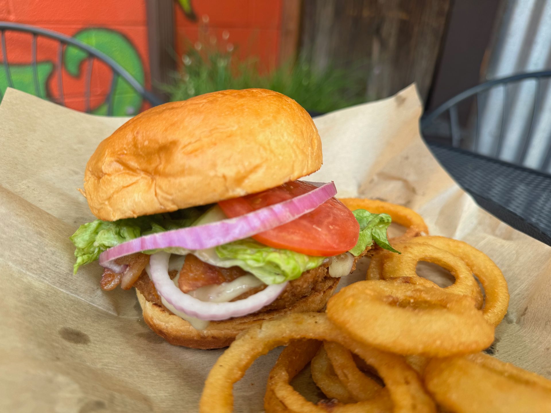
{"type": "Polygon", "coordinates": [[[494,326],[472,298],[424,285],[354,282],[331,297],[326,312],[361,343],[402,355],[467,354],[494,340],[494,326]]]}

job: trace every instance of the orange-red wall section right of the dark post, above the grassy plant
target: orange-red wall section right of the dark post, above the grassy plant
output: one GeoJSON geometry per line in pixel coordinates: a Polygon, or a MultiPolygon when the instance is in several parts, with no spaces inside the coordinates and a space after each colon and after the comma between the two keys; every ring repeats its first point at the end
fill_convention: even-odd
{"type": "Polygon", "coordinates": [[[228,32],[227,41],[237,46],[240,57],[259,57],[262,68],[278,63],[282,0],[197,0],[191,4],[196,22],[175,7],[175,48],[179,56],[185,52],[187,41],[198,40],[199,24],[207,20],[209,32],[218,40],[224,31],[228,32]]]}

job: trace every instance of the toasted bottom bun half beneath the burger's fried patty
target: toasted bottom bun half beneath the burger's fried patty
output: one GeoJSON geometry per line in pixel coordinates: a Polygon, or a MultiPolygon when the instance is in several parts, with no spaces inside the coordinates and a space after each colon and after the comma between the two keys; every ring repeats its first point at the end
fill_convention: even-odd
{"type": "Polygon", "coordinates": [[[143,319],[155,333],[170,344],[206,350],[229,346],[235,340],[237,334],[253,325],[262,323],[264,320],[289,313],[322,311],[329,297],[333,295],[339,280],[340,278],[331,278],[325,290],[314,291],[312,294],[300,298],[290,307],[261,311],[249,316],[230,318],[229,320],[212,321],[204,330],[196,330],[186,320],[169,313],[158,304],[145,300],[145,297],[138,290],[136,290],[136,295],[142,306],[143,319]]]}

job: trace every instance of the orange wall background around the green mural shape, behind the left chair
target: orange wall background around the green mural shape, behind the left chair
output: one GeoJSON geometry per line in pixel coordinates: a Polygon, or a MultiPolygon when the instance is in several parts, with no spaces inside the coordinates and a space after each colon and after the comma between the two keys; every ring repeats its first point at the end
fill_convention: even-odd
{"type": "MultiPolygon", "coordinates": [[[[136,0],[0,0],[0,20],[25,23],[73,36],[84,28],[108,28],[125,36],[141,58],[145,85],[149,86],[149,61],[145,2],[136,0]]],[[[6,36],[8,61],[30,63],[31,36],[8,32],[6,36]]],[[[37,60],[55,63],[48,92],[58,96],[57,86],[57,43],[39,39],[37,60]]],[[[74,78],[64,69],[63,86],[66,104],[77,110],[84,110],[84,70],[74,78]]],[[[111,72],[95,62],[92,71],[91,106],[95,107],[105,99],[109,90],[111,72]]]]}

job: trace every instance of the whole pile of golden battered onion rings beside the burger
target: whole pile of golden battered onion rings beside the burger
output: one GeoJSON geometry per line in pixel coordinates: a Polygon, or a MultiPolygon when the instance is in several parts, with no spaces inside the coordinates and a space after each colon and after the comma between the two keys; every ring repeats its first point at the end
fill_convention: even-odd
{"type": "Polygon", "coordinates": [[[479,353],[493,341],[509,302],[493,261],[464,242],[422,236],[423,219],[404,206],[342,202],[406,226],[392,241],[402,254],[375,248],[367,280],[332,297],[327,315],[289,314],[242,334],[210,372],[200,411],[230,412],[231,389],[247,367],[288,343],[269,375],[267,413],[435,412],[434,402],[458,413],[551,411],[550,381],[479,353]],[[444,267],[455,282],[442,288],[418,276],[419,261],[444,267]],[[309,362],[329,398],[318,404],[289,384],[309,362]]]}

